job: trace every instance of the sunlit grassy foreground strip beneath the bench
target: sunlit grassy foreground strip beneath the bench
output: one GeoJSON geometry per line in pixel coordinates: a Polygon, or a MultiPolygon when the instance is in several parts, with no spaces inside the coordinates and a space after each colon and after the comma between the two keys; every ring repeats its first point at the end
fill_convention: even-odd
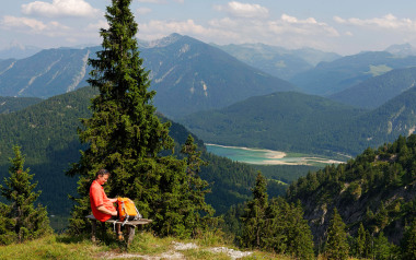
{"type": "MultiPolygon", "coordinates": [[[[0,246],[0,259],[143,259],[145,257],[160,257],[163,259],[167,256],[176,255],[189,260],[229,260],[231,257],[223,250],[216,248],[228,248],[229,250],[239,250],[233,246],[224,245],[220,234],[207,233],[199,239],[178,239],[174,237],[154,237],[151,233],[138,233],[134,241],[127,248],[125,243],[118,243],[111,233],[104,235],[102,241],[92,243],[88,235],[69,236],[69,235],[49,235],[47,237],[25,241],[23,244],[0,246]],[[188,246],[184,249],[177,248],[177,245],[188,246]]],[[[292,259],[286,256],[279,256],[264,251],[253,251],[245,256],[244,260],[254,259],[292,259]]]]}

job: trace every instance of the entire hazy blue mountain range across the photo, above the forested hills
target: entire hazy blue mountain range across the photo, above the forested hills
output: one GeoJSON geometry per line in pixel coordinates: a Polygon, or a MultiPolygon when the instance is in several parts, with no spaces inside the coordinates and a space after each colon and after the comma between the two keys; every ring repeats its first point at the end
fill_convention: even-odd
{"type": "MultiPolygon", "coordinates": [[[[263,44],[208,45],[172,34],[158,40],[139,40],[139,47],[143,66],[150,71],[151,88],[158,92],[154,105],[170,118],[285,91],[331,96],[354,106],[374,108],[412,85],[397,78],[396,83],[385,82],[389,86],[381,87],[377,81],[393,80],[378,76],[416,66],[416,56],[409,56],[414,54],[411,45],[340,57],[315,49],[288,50],[263,44]],[[280,79],[290,79],[291,83],[280,79]],[[381,88],[377,91],[374,84],[381,88]]],[[[95,58],[100,49],[48,49],[24,59],[0,60],[0,96],[47,98],[85,86],[91,71],[88,59],[95,58]]]]}

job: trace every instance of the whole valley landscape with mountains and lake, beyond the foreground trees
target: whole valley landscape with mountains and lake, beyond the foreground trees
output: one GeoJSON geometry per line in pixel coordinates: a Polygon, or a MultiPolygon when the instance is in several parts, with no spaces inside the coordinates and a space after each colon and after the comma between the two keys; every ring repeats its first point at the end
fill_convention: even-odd
{"type": "MultiPolygon", "coordinates": [[[[194,167],[190,174],[206,181],[204,199],[226,229],[240,235],[243,206],[262,173],[270,203],[301,201],[317,247],[335,208],[351,236],[366,223],[371,236],[382,231],[398,244],[416,204],[416,57],[218,47],[178,34],[140,45],[149,73],[146,105],[152,106],[154,96],[150,110],[173,139],[172,147],[154,150],[154,156],[158,163],[167,158],[177,168],[194,167]],[[188,137],[197,144],[194,154],[183,150],[188,137]],[[185,166],[187,159],[195,164],[185,166]]],[[[8,175],[12,146],[20,145],[55,229],[68,224],[74,205],[68,194],[77,201],[78,169],[68,169],[89,150],[77,132],[99,93],[84,86],[86,61],[95,51],[100,48],[50,49],[0,60],[0,95],[7,96],[0,97],[0,178],[8,175]]],[[[142,177],[152,167],[140,165],[135,174],[142,177]]],[[[154,167],[163,174],[173,168],[154,167]]],[[[88,184],[90,176],[84,177],[88,184]]]]}

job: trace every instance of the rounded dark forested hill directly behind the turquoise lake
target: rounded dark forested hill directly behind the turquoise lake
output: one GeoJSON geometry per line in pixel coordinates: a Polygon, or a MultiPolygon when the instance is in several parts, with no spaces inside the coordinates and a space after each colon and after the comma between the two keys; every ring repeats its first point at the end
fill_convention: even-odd
{"type": "Polygon", "coordinates": [[[197,113],[181,122],[210,143],[323,154],[333,140],[321,138],[363,113],[324,97],[287,92],[197,113]]]}

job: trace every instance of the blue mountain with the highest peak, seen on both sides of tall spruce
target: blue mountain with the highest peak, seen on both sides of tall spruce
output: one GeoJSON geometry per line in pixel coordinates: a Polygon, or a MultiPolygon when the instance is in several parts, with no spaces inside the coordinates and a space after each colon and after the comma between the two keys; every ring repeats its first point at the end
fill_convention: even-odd
{"type": "MultiPolygon", "coordinates": [[[[100,47],[43,50],[22,60],[0,61],[0,96],[47,98],[85,86],[100,47]]],[[[141,57],[151,71],[154,105],[174,118],[221,108],[250,96],[294,87],[254,69],[224,51],[187,36],[173,34],[142,43],[141,57]]]]}

